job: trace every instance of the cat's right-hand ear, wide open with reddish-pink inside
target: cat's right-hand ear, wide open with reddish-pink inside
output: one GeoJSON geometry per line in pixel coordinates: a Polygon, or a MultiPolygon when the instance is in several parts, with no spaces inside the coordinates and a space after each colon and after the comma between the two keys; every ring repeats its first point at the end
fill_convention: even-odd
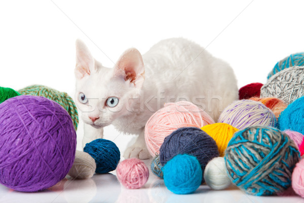
{"type": "Polygon", "coordinates": [[[140,88],[144,81],[144,64],[139,51],[134,48],[126,50],[116,63],[113,73],[115,77],[122,76],[125,81],[140,88]]]}

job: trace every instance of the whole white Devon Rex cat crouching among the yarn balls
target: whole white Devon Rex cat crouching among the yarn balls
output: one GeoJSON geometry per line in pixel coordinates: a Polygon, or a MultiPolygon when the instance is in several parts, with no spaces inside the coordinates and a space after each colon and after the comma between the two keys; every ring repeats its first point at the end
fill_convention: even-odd
{"type": "Polygon", "coordinates": [[[109,69],[76,42],[75,103],[85,122],[83,146],[102,138],[103,127],[113,124],[125,133],[139,134],[124,157],[149,158],[144,141],[148,118],[166,102],[189,100],[215,121],[220,111],[238,99],[231,67],[199,45],[182,38],[154,45],[141,56],[125,51],[109,69]]]}

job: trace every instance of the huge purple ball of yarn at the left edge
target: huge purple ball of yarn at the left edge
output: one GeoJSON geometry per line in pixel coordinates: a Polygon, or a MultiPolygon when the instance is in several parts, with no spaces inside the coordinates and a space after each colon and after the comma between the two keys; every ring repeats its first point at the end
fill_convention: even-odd
{"type": "Polygon", "coordinates": [[[0,105],[0,183],[19,191],[49,188],[70,170],[76,132],[54,101],[22,95],[0,105]]]}

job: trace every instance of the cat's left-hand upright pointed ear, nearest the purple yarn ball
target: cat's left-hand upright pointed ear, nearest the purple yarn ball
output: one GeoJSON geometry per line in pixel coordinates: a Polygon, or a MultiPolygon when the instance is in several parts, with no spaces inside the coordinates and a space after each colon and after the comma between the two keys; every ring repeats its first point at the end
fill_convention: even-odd
{"type": "Polygon", "coordinates": [[[96,71],[95,59],[85,43],[78,39],[76,41],[75,77],[82,79],[86,75],[91,75],[94,71],[96,71]]]}

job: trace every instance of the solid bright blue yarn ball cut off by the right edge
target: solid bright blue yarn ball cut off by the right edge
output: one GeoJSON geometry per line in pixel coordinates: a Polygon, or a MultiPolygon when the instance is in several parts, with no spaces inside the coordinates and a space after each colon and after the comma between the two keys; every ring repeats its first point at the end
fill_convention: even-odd
{"type": "Polygon", "coordinates": [[[304,134],[304,96],[296,99],[281,113],[278,122],[281,130],[290,129],[304,134]]]}

